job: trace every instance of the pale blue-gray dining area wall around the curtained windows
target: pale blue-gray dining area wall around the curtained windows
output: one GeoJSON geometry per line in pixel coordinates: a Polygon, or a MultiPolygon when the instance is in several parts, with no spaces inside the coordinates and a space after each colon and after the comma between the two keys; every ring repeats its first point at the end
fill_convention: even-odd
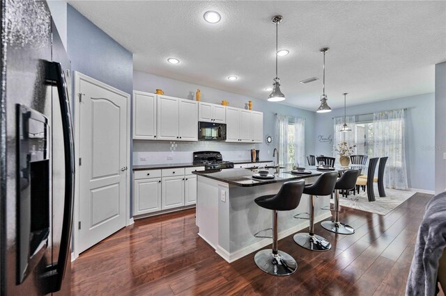
{"type": "MultiPolygon", "coordinates": [[[[445,72],[445,69],[443,69],[443,81],[445,81],[445,72]]],[[[434,93],[377,101],[371,104],[347,106],[346,113],[347,115],[359,115],[397,108],[408,108],[406,110],[406,166],[409,188],[434,190],[434,149],[436,145],[436,133],[434,132],[436,126],[434,120],[436,99],[434,93]]],[[[443,92],[443,109],[441,113],[443,113],[444,120],[445,92],[443,92]]],[[[332,117],[343,115],[344,108],[336,108],[332,112],[325,114],[316,113],[316,127],[313,139],[316,149],[314,154],[332,155],[332,144],[320,143],[317,137],[318,135],[331,135],[333,137],[332,117]]],[[[446,125],[443,124],[443,126],[446,125]]],[[[443,141],[443,147],[444,145],[445,142],[443,141]]],[[[443,176],[444,172],[443,168],[443,176]]]]}

